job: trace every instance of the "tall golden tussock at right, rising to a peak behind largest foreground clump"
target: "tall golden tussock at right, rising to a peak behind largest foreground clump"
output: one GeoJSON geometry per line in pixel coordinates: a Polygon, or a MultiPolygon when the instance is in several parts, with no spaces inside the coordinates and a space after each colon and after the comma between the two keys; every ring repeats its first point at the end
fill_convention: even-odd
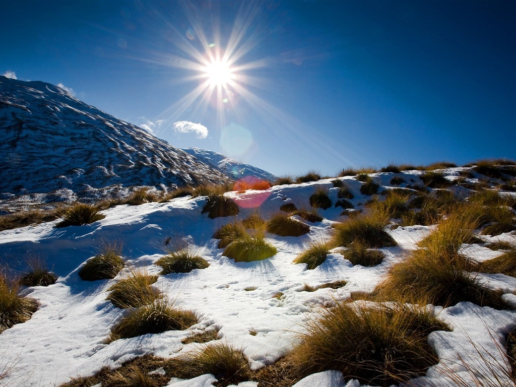
{"type": "Polygon", "coordinates": [[[480,306],[504,308],[502,292],[481,286],[470,271],[475,265],[458,253],[471,238],[474,220],[450,216],[423,239],[420,249],[393,265],[386,279],[376,288],[381,300],[415,297],[426,303],[449,307],[460,301],[480,306]]]}

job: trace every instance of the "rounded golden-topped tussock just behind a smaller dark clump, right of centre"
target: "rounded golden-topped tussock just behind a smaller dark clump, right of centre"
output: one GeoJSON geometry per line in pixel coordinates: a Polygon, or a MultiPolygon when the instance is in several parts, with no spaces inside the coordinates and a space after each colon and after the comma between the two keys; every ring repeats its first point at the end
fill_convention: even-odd
{"type": "Polygon", "coordinates": [[[396,246],[396,241],[385,231],[386,224],[384,218],[375,214],[349,218],[335,226],[331,245],[346,247],[358,241],[366,248],[396,246]]]}

